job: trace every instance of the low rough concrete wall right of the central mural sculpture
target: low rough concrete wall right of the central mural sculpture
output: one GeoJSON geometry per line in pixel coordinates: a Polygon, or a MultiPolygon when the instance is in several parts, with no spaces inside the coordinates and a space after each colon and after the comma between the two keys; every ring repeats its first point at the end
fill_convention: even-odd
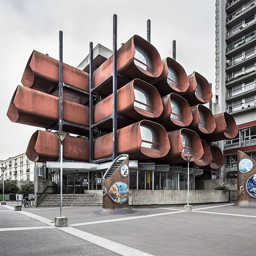
{"type": "MultiPolygon", "coordinates": [[[[186,190],[130,190],[129,205],[186,204],[186,190]]],[[[190,203],[225,203],[229,193],[220,190],[191,190],[190,203]]]]}

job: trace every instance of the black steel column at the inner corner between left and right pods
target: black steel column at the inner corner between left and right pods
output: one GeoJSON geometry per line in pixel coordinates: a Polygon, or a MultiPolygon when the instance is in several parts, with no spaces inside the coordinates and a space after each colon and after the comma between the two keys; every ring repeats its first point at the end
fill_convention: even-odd
{"type": "Polygon", "coordinates": [[[94,122],[93,120],[93,93],[92,93],[92,89],[93,89],[93,68],[92,68],[92,64],[93,64],[93,43],[90,42],[90,94],[89,94],[89,108],[90,108],[90,113],[89,113],[89,138],[90,138],[90,144],[89,144],[89,159],[90,159],[90,163],[93,160],[93,132],[92,132],[92,124],[94,122]]]}

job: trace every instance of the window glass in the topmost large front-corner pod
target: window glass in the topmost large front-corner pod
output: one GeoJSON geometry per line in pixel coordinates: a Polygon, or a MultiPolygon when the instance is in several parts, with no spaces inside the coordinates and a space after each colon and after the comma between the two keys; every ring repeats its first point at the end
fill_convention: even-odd
{"type": "Polygon", "coordinates": [[[140,48],[135,44],[135,54],[134,54],[134,64],[139,68],[142,68],[146,71],[152,72],[152,60],[149,55],[144,49],[140,48]]]}

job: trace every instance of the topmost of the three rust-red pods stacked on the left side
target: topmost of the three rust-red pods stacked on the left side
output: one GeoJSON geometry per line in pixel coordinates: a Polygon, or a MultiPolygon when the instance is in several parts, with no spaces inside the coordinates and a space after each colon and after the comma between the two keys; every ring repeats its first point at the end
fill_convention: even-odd
{"type": "MultiPolygon", "coordinates": [[[[89,91],[89,74],[63,63],[63,82],[80,90],[89,91]]],[[[22,76],[22,84],[34,90],[58,96],[59,61],[41,52],[33,51],[22,76]]],[[[79,104],[89,97],[63,88],[63,97],[79,104]]]]}

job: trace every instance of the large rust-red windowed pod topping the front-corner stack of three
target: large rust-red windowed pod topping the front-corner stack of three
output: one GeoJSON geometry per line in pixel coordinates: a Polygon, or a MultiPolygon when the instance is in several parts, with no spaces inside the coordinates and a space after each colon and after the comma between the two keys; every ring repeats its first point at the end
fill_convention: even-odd
{"type": "MultiPolygon", "coordinates": [[[[93,73],[93,86],[97,87],[113,70],[113,56],[107,59],[93,73]]],[[[117,71],[129,80],[139,78],[151,82],[163,71],[163,64],[156,48],[140,36],[134,35],[117,51],[117,71]]],[[[118,77],[118,89],[127,84],[127,79],[118,77]]],[[[112,79],[96,89],[102,95],[112,93],[112,79]]]]}

